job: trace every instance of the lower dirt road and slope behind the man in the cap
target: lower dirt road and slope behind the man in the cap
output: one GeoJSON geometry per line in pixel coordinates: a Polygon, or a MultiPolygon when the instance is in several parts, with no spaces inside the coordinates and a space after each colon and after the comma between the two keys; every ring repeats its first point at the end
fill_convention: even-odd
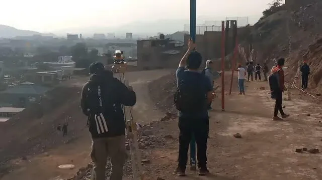
{"type": "MultiPolygon", "coordinates": [[[[133,112],[137,122],[148,123],[158,120],[164,115],[163,112],[156,110],[154,104],[149,101],[147,83],[165,76],[169,72],[169,70],[154,70],[129,72],[126,75],[130,85],[137,93],[137,104],[133,112]]],[[[53,177],[69,178],[74,175],[78,168],[86,166],[91,161],[89,158],[91,138],[86,127],[86,117],[79,107],[79,93],[87,79],[88,77],[74,77],[71,81],[64,82],[66,86],[78,87],[74,96],[69,96],[70,99],[67,98],[66,103],[53,109],[53,112],[40,119],[32,120],[30,123],[12,125],[11,128],[20,133],[14,135],[11,132],[6,132],[4,134],[4,137],[8,139],[3,138],[1,143],[4,144],[6,155],[18,155],[13,156],[15,158],[7,163],[12,168],[10,173],[5,174],[1,179],[16,180],[21,179],[21,177],[26,180],[50,179],[53,177]],[[55,130],[55,127],[59,123],[63,123],[66,115],[70,116],[68,135],[63,138],[62,134],[55,130]],[[35,141],[33,141],[34,139],[35,141]],[[39,143],[40,141],[43,142],[39,143]],[[19,144],[26,144],[30,147],[24,149],[19,147],[19,144]],[[37,148],[39,146],[40,151],[35,150],[39,149],[37,148]],[[23,153],[24,151],[28,151],[28,153],[23,153]],[[25,156],[26,160],[23,160],[22,156],[25,156]],[[68,170],[57,168],[61,164],[75,164],[75,168],[68,170]]]]}

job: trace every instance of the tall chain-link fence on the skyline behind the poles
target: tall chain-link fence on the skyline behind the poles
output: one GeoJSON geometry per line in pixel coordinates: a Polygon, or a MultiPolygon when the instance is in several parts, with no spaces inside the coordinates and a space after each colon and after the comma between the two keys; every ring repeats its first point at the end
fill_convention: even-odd
{"type": "MultiPolygon", "coordinates": [[[[237,21],[237,28],[244,27],[249,24],[249,17],[226,18],[225,21],[237,21]]],[[[190,25],[185,25],[185,31],[190,32],[190,25]]],[[[206,31],[221,32],[221,21],[205,21],[204,24],[199,24],[196,27],[196,34],[203,35],[206,31]]]]}

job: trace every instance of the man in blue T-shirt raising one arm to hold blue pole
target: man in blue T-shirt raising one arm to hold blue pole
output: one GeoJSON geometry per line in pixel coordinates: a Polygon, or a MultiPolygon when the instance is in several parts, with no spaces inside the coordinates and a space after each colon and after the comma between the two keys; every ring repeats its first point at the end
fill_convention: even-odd
{"type": "Polygon", "coordinates": [[[188,149],[192,135],[197,143],[199,175],[206,175],[207,138],[209,134],[209,116],[207,107],[213,98],[210,81],[198,72],[202,63],[201,54],[194,51],[195,44],[189,41],[188,51],[181,59],[176,72],[178,89],[175,105],[179,110],[179,158],[174,171],[179,176],[185,175],[188,161],[188,149]],[[186,69],[187,68],[187,69],[186,69]]]}

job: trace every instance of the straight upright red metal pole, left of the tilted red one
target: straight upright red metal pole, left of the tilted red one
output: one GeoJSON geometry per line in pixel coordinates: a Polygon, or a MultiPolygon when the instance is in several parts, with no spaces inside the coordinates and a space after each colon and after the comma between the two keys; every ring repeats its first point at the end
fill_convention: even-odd
{"type": "Polygon", "coordinates": [[[221,111],[225,111],[225,21],[221,21],[221,111]]]}

